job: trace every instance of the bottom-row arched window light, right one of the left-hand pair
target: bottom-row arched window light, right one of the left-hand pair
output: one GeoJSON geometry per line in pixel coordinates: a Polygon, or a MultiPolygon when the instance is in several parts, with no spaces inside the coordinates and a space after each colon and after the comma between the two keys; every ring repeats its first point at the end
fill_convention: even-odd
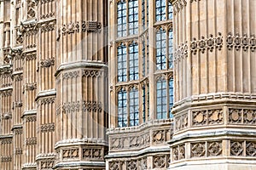
{"type": "Polygon", "coordinates": [[[137,88],[132,88],[129,92],[129,113],[130,126],[139,125],[139,98],[137,88]]]}

